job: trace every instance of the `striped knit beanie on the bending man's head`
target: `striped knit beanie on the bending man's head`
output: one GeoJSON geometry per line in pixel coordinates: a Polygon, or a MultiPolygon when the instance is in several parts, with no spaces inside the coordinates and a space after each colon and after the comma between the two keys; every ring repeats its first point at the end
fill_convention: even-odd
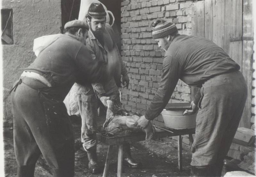
{"type": "Polygon", "coordinates": [[[172,35],[178,32],[176,25],[162,19],[154,21],[151,26],[153,27],[153,39],[163,38],[167,35],[172,35]]]}

